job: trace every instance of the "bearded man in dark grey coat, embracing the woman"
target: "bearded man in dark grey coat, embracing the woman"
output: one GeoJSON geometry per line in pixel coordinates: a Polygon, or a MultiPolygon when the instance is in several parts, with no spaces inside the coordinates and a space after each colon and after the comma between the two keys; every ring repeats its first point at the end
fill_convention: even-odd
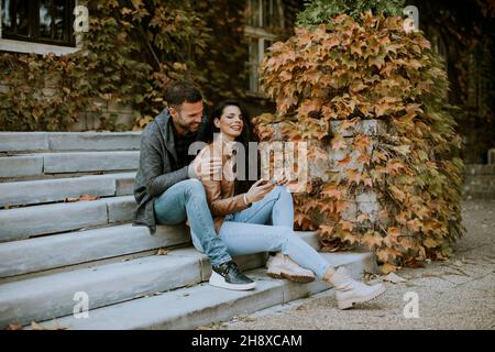
{"type": "Polygon", "coordinates": [[[221,168],[219,158],[204,161],[189,155],[189,145],[205,141],[208,119],[201,94],[188,82],[172,86],[164,109],[141,135],[140,166],[134,182],[138,207],[133,224],[144,224],[155,233],[157,224],[189,226],[222,277],[216,286],[244,290],[255,283],[242,274],[217,237],[206,194],[198,177],[212,176],[221,168]]]}

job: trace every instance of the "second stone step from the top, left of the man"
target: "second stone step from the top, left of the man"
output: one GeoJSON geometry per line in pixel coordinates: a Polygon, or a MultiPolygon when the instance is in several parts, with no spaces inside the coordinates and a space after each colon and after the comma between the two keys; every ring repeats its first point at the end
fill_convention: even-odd
{"type": "Polygon", "coordinates": [[[40,153],[0,157],[0,178],[48,174],[134,170],[140,152],[40,153]]]}

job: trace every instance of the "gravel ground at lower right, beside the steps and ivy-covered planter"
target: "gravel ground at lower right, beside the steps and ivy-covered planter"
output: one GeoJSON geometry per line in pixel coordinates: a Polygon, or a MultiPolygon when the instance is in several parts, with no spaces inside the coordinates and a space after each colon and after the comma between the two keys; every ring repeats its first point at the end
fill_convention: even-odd
{"type": "Polygon", "coordinates": [[[450,260],[399,271],[407,282],[386,283],[387,292],[371,302],[342,311],[337,309],[333,290],[327,290],[210,328],[495,329],[495,199],[464,201],[463,219],[468,233],[450,260]],[[405,310],[414,314],[408,295],[415,294],[418,317],[406,318],[405,310]]]}

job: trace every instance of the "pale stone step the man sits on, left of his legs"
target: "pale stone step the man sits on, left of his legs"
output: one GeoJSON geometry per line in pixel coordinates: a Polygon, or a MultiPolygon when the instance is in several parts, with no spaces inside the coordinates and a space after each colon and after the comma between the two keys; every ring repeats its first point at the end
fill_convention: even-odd
{"type": "Polygon", "coordinates": [[[131,224],[0,243],[0,278],[142,251],[186,244],[186,227],[160,226],[154,235],[131,224]]]}

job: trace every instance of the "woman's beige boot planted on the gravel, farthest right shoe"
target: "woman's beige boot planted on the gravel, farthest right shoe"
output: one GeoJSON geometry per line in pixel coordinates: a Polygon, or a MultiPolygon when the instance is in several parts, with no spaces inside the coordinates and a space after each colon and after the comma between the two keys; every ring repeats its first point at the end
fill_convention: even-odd
{"type": "Polygon", "coordinates": [[[362,304],[382,295],[386,288],[384,284],[373,286],[353,279],[344,267],[339,267],[328,280],[336,288],[339,309],[352,308],[354,304],[362,304]]]}

